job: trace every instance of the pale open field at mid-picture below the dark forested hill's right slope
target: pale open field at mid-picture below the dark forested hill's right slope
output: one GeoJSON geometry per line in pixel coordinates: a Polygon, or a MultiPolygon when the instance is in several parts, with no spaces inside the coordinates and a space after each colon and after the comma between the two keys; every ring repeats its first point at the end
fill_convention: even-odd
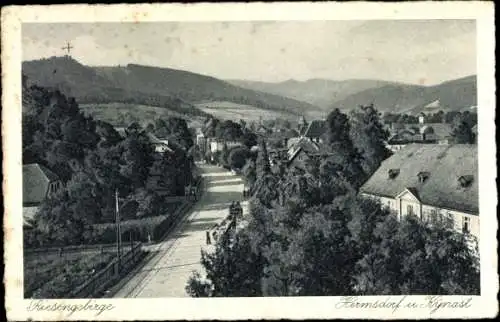
{"type": "Polygon", "coordinates": [[[251,105],[236,104],[227,101],[213,101],[206,103],[195,104],[200,110],[205,113],[212,114],[213,116],[223,120],[239,120],[258,121],[262,119],[297,119],[297,116],[285,112],[277,112],[261,109],[251,105]]]}

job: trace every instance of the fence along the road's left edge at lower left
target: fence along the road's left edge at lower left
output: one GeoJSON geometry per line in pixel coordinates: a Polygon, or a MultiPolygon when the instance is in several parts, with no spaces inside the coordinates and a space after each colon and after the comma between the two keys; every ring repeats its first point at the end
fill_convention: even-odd
{"type": "Polygon", "coordinates": [[[141,247],[141,243],[134,245],[127,253],[121,256],[120,263],[118,262],[118,258],[115,258],[103,270],[77,287],[65,298],[92,298],[105,291],[106,288],[116,283],[143,258],[144,252],[141,247]]]}

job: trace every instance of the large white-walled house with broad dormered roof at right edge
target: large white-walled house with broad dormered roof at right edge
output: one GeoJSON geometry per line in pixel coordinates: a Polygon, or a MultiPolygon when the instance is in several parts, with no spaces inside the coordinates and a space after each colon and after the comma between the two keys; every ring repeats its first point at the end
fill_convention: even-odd
{"type": "Polygon", "coordinates": [[[477,146],[409,144],[382,162],[360,194],[379,200],[398,218],[449,220],[479,239],[477,146]]]}

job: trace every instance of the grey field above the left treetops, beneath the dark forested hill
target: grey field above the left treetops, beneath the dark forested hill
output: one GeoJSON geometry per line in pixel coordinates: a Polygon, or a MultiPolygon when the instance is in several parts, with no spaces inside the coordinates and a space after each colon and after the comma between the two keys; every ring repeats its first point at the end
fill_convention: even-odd
{"type": "Polygon", "coordinates": [[[87,115],[94,119],[108,122],[114,126],[122,127],[132,122],[138,122],[142,126],[148,123],[154,124],[159,118],[182,117],[189,120],[191,127],[196,127],[201,118],[186,116],[176,111],[163,107],[126,104],[126,103],[107,103],[107,104],[80,104],[80,108],[87,115]]]}

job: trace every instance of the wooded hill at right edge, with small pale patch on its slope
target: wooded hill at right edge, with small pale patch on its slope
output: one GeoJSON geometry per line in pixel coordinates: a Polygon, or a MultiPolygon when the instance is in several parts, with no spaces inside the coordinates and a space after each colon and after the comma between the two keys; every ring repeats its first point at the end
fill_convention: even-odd
{"type": "Polygon", "coordinates": [[[370,103],[381,112],[393,113],[466,110],[477,105],[477,77],[468,76],[434,86],[399,84],[371,88],[334,102],[332,107],[348,110],[370,103]]]}

